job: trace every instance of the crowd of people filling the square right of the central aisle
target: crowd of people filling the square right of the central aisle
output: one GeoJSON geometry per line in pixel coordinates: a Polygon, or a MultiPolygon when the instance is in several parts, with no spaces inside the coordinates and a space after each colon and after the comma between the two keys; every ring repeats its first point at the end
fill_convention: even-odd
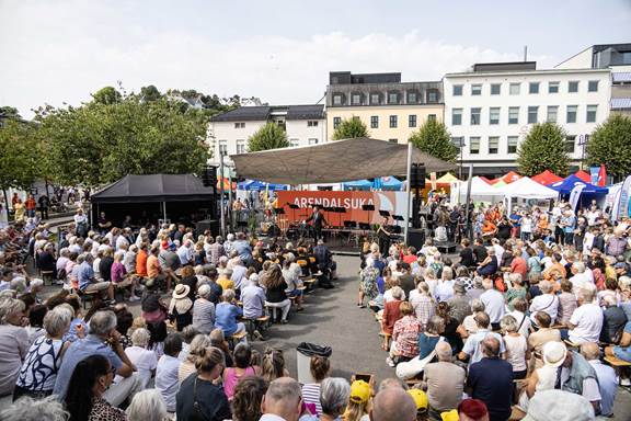
{"type": "MultiPolygon", "coordinates": [[[[449,215],[462,209],[432,207],[434,227],[454,236],[449,215]]],[[[629,219],[563,202],[510,214],[498,203],[471,217],[474,240],[463,238],[458,257],[433,239],[386,255],[365,244],[357,306],[376,312],[387,364],[422,385],[433,419],[469,396],[506,420],[553,389],[612,416],[619,376],[631,385],[609,365],[631,363],[629,219]]]]}

